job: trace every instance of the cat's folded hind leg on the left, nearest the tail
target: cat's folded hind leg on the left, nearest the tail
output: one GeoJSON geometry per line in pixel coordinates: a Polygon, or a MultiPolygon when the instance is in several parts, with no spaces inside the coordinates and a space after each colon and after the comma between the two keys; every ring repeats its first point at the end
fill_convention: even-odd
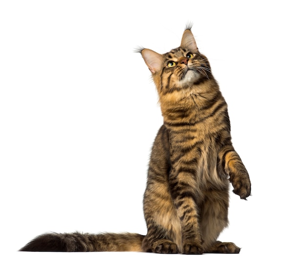
{"type": "Polygon", "coordinates": [[[148,233],[142,242],[144,252],[177,254],[181,251],[181,227],[168,181],[169,139],[162,126],[155,138],[144,194],[144,215],[148,233]]]}

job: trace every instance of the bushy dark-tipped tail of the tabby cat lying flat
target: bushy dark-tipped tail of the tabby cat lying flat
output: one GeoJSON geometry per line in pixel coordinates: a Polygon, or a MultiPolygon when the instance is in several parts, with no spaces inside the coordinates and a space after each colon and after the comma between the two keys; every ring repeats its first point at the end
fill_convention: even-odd
{"type": "Polygon", "coordinates": [[[45,252],[101,252],[101,251],[134,251],[141,252],[145,236],[133,233],[50,233],[38,236],[19,251],[45,252]]]}

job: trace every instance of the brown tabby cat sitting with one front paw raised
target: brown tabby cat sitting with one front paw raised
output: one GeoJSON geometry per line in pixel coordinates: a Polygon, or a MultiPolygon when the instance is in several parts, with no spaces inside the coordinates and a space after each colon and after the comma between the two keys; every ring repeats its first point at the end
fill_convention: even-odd
{"type": "Polygon", "coordinates": [[[246,199],[251,182],[230,135],[227,104],[208,59],[187,25],[166,54],[141,48],[158,92],[164,123],[154,140],[143,199],[147,235],[50,233],[20,251],[239,253],[220,242],[228,225],[229,183],[246,199]]]}

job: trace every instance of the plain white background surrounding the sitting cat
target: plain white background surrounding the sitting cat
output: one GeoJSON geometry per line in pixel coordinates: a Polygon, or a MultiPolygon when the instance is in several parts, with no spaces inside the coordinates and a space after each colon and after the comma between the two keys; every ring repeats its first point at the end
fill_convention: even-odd
{"type": "Polygon", "coordinates": [[[258,259],[304,255],[303,1],[0,1],[1,259],[258,259]],[[16,252],[48,232],[146,234],[142,195],[162,124],[139,45],[194,23],[252,181],[220,240],[240,255],[16,252]]]}

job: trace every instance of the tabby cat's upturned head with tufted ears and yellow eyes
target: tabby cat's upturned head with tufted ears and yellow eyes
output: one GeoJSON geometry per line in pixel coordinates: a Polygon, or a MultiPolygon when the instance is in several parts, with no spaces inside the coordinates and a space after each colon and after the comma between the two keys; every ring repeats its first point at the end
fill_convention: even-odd
{"type": "Polygon", "coordinates": [[[165,54],[150,49],[141,49],[140,52],[159,93],[189,88],[212,78],[210,64],[199,53],[190,27],[185,29],[178,48],[165,54]]]}

